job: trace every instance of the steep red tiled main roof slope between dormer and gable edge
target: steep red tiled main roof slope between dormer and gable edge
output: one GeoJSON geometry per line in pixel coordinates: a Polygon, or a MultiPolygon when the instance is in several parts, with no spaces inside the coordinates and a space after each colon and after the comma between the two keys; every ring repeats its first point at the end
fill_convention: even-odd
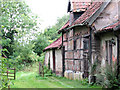
{"type": "Polygon", "coordinates": [[[102,5],[103,2],[92,2],[92,4],[89,6],[89,8],[86,10],[85,13],[83,13],[73,24],[72,26],[76,24],[82,24],[87,19],[89,19],[102,5]]]}

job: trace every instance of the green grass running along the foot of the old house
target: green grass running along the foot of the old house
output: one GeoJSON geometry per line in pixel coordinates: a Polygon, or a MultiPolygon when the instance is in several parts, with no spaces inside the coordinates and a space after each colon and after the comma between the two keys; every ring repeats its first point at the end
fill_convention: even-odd
{"type": "Polygon", "coordinates": [[[81,81],[69,80],[63,77],[40,77],[38,64],[26,67],[25,70],[16,73],[11,88],[101,88],[100,86],[82,85],[81,81]]]}

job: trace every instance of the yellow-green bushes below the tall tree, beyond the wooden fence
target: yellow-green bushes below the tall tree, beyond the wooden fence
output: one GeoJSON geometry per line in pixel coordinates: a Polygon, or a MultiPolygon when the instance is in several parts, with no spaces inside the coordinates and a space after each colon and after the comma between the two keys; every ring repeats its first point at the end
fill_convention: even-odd
{"type": "Polygon", "coordinates": [[[17,70],[23,69],[30,63],[37,62],[39,56],[32,51],[32,44],[17,44],[13,56],[10,56],[9,67],[16,67],[17,70]]]}

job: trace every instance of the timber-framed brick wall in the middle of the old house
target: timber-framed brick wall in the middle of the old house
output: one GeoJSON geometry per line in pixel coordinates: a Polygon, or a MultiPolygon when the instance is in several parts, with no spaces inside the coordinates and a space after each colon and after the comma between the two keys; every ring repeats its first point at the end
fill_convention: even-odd
{"type": "Polygon", "coordinates": [[[74,28],[74,30],[72,29],[63,35],[65,70],[84,72],[83,36],[89,34],[89,31],[84,27],[74,28]],[[74,43],[76,43],[76,48],[74,48],[74,43]]]}

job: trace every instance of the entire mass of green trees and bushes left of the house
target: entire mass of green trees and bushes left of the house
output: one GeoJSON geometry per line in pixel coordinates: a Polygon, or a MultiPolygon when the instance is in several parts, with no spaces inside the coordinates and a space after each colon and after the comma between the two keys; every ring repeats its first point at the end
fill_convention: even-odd
{"type": "MultiPolygon", "coordinates": [[[[58,18],[55,25],[38,33],[38,17],[24,0],[0,0],[0,13],[0,46],[3,48],[0,62],[4,66],[0,70],[4,72],[7,67],[21,70],[37,61],[43,62],[43,49],[60,36],[57,31],[68,19],[68,16],[58,18]]],[[[47,73],[48,69],[44,70],[47,73]]],[[[4,87],[8,81],[4,77],[0,79],[4,87]]]]}

